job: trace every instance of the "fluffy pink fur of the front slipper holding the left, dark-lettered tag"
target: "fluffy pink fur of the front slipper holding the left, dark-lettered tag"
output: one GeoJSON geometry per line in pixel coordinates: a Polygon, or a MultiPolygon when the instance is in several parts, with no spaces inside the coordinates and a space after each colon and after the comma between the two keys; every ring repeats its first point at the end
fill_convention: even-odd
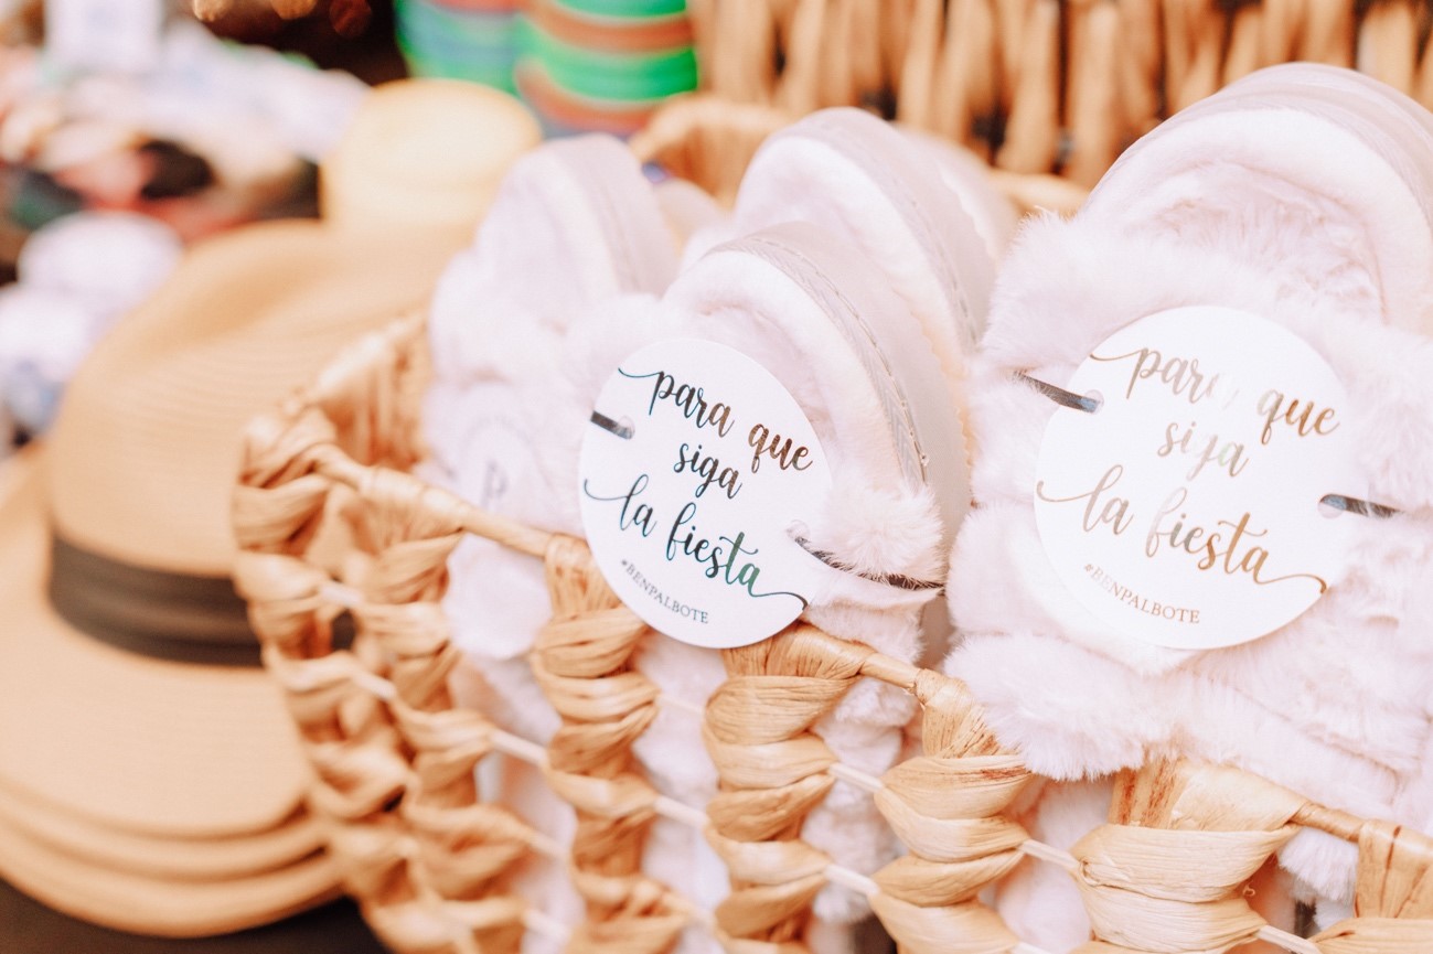
{"type": "MultiPolygon", "coordinates": [[[[566,345],[563,384],[547,391],[547,415],[557,420],[580,411],[585,418],[612,368],[651,341],[701,337],[738,347],[777,371],[807,410],[833,461],[835,487],[811,520],[813,544],[868,573],[939,574],[940,523],[934,504],[927,493],[909,488],[901,480],[876,397],[868,388],[854,387],[860,380],[854,375],[861,374],[858,365],[843,355],[845,345],[802,298],[804,292],[770,265],[718,249],[678,278],[661,302],[598,304],[575,322],[566,345]],[[804,317],[798,321],[798,315],[804,317]],[[553,403],[565,410],[559,411],[553,403]]],[[[576,441],[580,434],[547,441],[542,450],[547,466],[567,467],[575,474],[576,441]]],[[[572,486],[576,487],[575,480],[572,486]]],[[[876,645],[903,659],[916,657],[917,620],[929,592],[911,593],[838,570],[825,570],[821,579],[808,619],[838,636],[876,645]]],[[[663,645],[661,653],[686,660],[661,669],[643,668],[666,695],[699,705],[724,678],[714,653],[675,643],[663,645]]],[[[906,693],[863,680],[818,731],[844,761],[878,774],[894,759],[898,726],[911,712],[906,693]]],[[[684,725],[684,715],[663,716],[646,732],[638,751],[663,791],[681,791],[689,804],[704,804],[715,792],[715,779],[709,778],[711,766],[699,748],[698,723],[688,719],[684,725]]],[[[897,851],[870,795],[844,784],[813,814],[804,834],[860,871],[874,871],[897,851]]],[[[841,888],[828,888],[817,900],[818,917],[833,922],[850,922],[866,911],[863,900],[841,888]]]]}

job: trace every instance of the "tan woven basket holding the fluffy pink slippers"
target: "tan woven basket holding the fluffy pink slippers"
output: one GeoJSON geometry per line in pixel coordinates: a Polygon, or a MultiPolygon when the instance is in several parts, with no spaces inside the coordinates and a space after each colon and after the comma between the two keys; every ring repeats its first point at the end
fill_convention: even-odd
{"type": "Polygon", "coordinates": [[[257,420],[235,496],[239,589],[314,766],[310,804],[347,890],[394,951],[516,951],[524,930],[540,930],[566,934],[576,954],[661,954],[696,924],[732,954],[800,954],[811,900],[840,882],[870,898],[910,954],[1039,954],[976,900],[1022,859],[1075,880],[1098,938],[1079,954],[1225,951],[1257,938],[1300,954],[1433,950],[1429,838],[1231,768],[1161,762],[1118,779],[1109,824],[1072,852],[1042,845],[1006,816],[1030,776],[960,682],[804,623],[722,650],[728,680],[704,716],[721,794],[706,806],[659,796],[631,753],[663,703],[629,662],[646,629],[586,546],[406,473],[421,458],[424,348],[421,321],[406,318],[257,420]],[[530,659],[562,715],[546,751],[449,693],[457,650],[438,599],[444,560],[466,533],[547,567],[553,617],[530,659]],[[334,649],[342,612],[357,636],[334,649]],[[923,755],[878,779],[840,765],[811,728],[858,679],[898,686],[923,708],[923,755]],[[499,752],[542,766],[576,808],[566,861],[588,917],[570,933],[507,892],[519,859],[560,849],[481,801],[474,768],[499,752]],[[868,789],[909,848],[871,877],[801,841],[837,778],[868,789]],[[701,827],[729,867],[716,911],[641,874],[658,815],[701,827]],[[1268,925],[1247,897],[1300,825],[1360,849],[1357,917],[1313,940],[1268,925]]]}

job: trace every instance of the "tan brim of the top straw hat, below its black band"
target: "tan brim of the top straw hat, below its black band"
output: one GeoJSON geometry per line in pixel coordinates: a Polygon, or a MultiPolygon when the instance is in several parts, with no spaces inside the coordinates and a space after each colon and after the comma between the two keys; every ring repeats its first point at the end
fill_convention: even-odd
{"type": "Polygon", "coordinates": [[[310,775],[278,686],[258,666],[150,659],[69,626],[44,596],[44,457],[6,470],[0,784],[153,838],[235,838],[291,819],[310,775]]]}

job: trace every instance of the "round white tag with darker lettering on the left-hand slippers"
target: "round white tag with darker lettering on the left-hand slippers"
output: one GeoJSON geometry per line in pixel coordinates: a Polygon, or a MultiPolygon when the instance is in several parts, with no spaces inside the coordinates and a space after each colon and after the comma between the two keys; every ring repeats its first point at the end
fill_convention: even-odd
{"type": "Polygon", "coordinates": [[[759,642],[805,609],[820,562],[794,540],[831,486],[795,400],[725,345],[641,348],[582,441],[582,526],[608,584],[695,646],[759,642]]]}

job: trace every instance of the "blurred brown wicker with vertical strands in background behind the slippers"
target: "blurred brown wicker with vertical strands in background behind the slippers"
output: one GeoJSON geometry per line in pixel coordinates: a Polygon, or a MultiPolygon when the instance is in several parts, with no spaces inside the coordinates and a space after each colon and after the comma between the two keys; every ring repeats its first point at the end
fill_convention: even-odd
{"type": "Polygon", "coordinates": [[[1433,107],[1433,43],[1416,0],[715,6],[728,9],[719,29],[704,36],[698,20],[696,33],[711,50],[702,86],[722,99],[795,113],[880,106],[1002,169],[1058,173],[1086,188],[1159,119],[1262,66],[1356,66],[1433,107]],[[797,23],[787,29],[792,6],[797,23]],[[878,69],[854,23],[874,24],[878,69]]]}

